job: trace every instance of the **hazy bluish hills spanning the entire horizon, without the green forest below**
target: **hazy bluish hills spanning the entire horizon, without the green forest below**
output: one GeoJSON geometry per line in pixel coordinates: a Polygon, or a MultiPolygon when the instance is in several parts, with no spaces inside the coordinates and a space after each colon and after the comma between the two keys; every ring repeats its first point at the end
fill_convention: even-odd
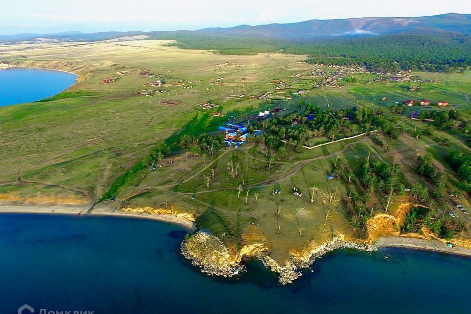
{"type": "MultiPolygon", "coordinates": [[[[34,43],[63,41],[97,41],[119,37],[149,36],[150,38],[178,36],[221,36],[275,38],[294,41],[314,38],[365,37],[374,35],[393,35],[400,33],[455,33],[471,34],[471,14],[448,13],[416,18],[371,17],[337,20],[310,20],[299,23],[268,24],[259,26],[240,25],[228,28],[204,28],[196,31],[108,31],[81,33],[79,31],[57,34],[17,34],[0,35],[3,43],[34,43]]],[[[144,38],[144,37],[141,37],[144,38]]]]}

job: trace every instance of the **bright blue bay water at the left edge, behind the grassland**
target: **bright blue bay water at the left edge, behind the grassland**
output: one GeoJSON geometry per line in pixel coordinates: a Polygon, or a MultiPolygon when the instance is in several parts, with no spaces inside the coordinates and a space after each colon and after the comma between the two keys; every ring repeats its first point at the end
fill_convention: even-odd
{"type": "Polygon", "coordinates": [[[74,85],[72,73],[31,68],[0,70],[0,107],[31,103],[51,97],[74,85]]]}

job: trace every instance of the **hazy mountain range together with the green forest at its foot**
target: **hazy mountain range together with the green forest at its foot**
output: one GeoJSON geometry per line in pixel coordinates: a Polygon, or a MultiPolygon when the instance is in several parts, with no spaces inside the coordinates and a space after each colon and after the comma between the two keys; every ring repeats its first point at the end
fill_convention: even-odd
{"type": "Polygon", "coordinates": [[[183,49],[221,54],[307,54],[308,63],[361,65],[374,71],[446,72],[471,66],[471,14],[417,18],[311,20],[196,31],[0,35],[0,43],[167,39],[183,49]]]}

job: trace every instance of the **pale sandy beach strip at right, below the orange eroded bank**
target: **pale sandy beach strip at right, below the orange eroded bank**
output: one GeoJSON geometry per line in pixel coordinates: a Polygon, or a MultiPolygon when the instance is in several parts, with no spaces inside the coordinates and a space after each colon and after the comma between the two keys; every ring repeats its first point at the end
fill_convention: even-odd
{"type": "Polygon", "coordinates": [[[399,247],[471,257],[471,250],[458,246],[448,247],[445,243],[438,240],[416,239],[403,236],[385,236],[379,238],[376,245],[378,247],[399,247]]]}

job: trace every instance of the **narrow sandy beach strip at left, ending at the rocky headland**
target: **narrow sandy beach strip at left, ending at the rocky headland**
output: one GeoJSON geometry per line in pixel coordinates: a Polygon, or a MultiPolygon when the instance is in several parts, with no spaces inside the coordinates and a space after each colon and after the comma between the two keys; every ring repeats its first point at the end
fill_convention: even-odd
{"type": "Polygon", "coordinates": [[[94,215],[94,216],[119,216],[137,219],[151,219],[162,221],[170,224],[175,224],[183,227],[188,232],[193,233],[196,226],[188,220],[175,217],[172,215],[149,215],[138,214],[131,212],[124,212],[114,210],[107,206],[96,206],[93,210],[87,213],[90,209],[89,204],[85,205],[68,205],[68,204],[49,204],[49,203],[26,203],[26,202],[11,202],[0,201],[0,214],[1,213],[35,213],[35,214],[65,214],[65,215],[94,215]]]}

